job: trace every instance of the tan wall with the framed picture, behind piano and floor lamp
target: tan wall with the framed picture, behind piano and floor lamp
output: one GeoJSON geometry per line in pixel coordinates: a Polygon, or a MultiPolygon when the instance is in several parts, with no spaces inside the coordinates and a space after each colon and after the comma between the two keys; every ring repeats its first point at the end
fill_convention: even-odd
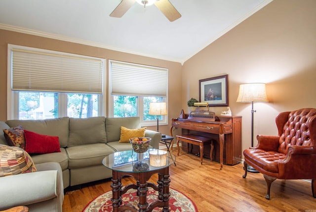
{"type": "MultiPolygon", "coordinates": [[[[183,108],[198,99],[198,80],[229,74],[229,106],[242,115],[250,146],[251,104],[236,103],[239,84],[267,83],[269,103],[255,103],[254,135],[277,135],[280,111],[316,107],[316,1],[274,0],[211,43],[183,67],[183,108]]],[[[211,107],[217,114],[226,107],[211,107]]],[[[256,139],[254,144],[257,144],[256,139]]]]}

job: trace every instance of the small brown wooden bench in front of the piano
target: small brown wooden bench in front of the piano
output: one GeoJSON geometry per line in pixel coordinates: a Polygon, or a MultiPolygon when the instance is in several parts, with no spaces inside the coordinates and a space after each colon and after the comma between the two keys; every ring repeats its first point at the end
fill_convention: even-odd
{"type": "MultiPolygon", "coordinates": [[[[197,136],[194,134],[186,134],[186,135],[177,136],[178,156],[180,152],[179,141],[183,141],[183,142],[187,142],[187,143],[191,143],[191,144],[199,146],[199,157],[200,157],[201,165],[203,164],[204,145],[210,144],[211,145],[210,158],[211,158],[211,161],[213,161],[212,154],[213,154],[214,145],[213,145],[212,139],[207,138],[207,137],[197,136]]],[[[188,148],[188,151],[189,151],[189,148],[188,148]]]]}

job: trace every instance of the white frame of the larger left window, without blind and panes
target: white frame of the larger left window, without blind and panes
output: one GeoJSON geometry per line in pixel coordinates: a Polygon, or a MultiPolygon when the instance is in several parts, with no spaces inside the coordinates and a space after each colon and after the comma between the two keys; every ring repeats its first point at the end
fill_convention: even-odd
{"type": "MultiPolygon", "coordinates": [[[[20,45],[14,45],[14,44],[8,44],[7,48],[7,119],[19,119],[19,92],[20,91],[14,91],[12,90],[12,49],[14,48],[21,48],[24,50],[30,50],[30,51],[40,51],[42,53],[53,53],[53,54],[60,54],[65,56],[76,56],[76,57],[86,57],[86,58],[96,58],[96,57],[90,57],[90,56],[84,56],[84,55],[76,55],[66,52],[59,52],[59,51],[52,51],[52,50],[46,50],[46,49],[40,49],[40,48],[34,48],[34,47],[27,47],[27,46],[20,46],[20,45]]],[[[103,62],[102,66],[102,74],[103,74],[103,92],[102,94],[94,94],[98,95],[98,115],[104,116],[106,114],[106,59],[104,58],[97,58],[103,62]]],[[[21,90],[22,91],[22,90],[21,90]]],[[[26,92],[26,91],[22,91],[26,92]]],[[[32,92],[32,91],[31,91],[32,92]]],[[[34,92],[43,92],[47,93],[45,91],[34,91],[34,92]]],[[[52,92],[52,93],[58,93],[58,117],[65,117],[67,116],[67,95],[71,93],[67,92],[52,92]]],[[[85,94],[85,93],[79,93],[79,94],[85,94]]]]}

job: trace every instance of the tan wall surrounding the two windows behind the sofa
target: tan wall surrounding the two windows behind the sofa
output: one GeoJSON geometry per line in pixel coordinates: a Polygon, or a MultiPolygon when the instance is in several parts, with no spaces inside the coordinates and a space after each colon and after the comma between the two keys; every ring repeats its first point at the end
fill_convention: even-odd
{"type": "MultiPolygon", "coordinates": [[[[125,61],[137,64],[157,66],[167,68],[168,72],[168,116],[177,117],[179,108],[177,106],[181,102],[181,76],[182,66],[180,63],[159,60],[149,57],[143,57],[133,54],[122,53],[104,48],[97,48],[72,42],[65,42],[35,35],[27,35],[6,30],[0,30],[0,120],[5,121],[6,116],[6,80],[7,80],[7,44],[15,44],[22,46],[30,46],[35,48],[49,49],[54,51],[62,51],[92,57],[100,57],[118,61],[125,61]]],[[[108,63],[107,63],[108,64],[108,63]]],[[[107,70],[108,67],[106,67],[107,70]]],[[[108,77],[107,77],[108,79],[108,77]]],[[[107,94],[107,92],[106,92],[107,94]]],[[[169,118],[168,118],[169,119],[169,118]]],[[[170,123],[169,123],[170,125],[170,123]]],[[[169,125],[159,126],[159,131],[169,135],[169,125]]],[[[156,130],[157,127],[148,127],[148,129],[156,130]]]]}

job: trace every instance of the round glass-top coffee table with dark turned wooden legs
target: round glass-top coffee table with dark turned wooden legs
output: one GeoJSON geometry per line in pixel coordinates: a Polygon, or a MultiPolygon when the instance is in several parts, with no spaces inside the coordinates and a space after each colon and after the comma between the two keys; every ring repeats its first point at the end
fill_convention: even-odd
{"type": "Polygon", "coordinates": [[[133,150],[118,151],[106,156],[102,160],[102,164],[112,169],[112,206],[113,212],[130,210],[132,212],[151,212],[154,208],[163,208],[163,212],[169,212],[169,166],[172,165],[176,158],[166,152],[166,164],[164,166],[151,166],[149,152],[158,151],[158,149],[150,148],[144,153],[136,153],[133,150]],[[158,173],[157,185],[147,182],[149,178],[158,173]],[[124,176],[132,176],[136,179],[136,184],[123,186],[121,178],[124,176]],[[147,203],[148,187],[158,191],[158,200],[147,203]],[[129,189],[137,189],[139,196],[138,210],[129,204],[122,205],[121,196],[129,189]]]}

